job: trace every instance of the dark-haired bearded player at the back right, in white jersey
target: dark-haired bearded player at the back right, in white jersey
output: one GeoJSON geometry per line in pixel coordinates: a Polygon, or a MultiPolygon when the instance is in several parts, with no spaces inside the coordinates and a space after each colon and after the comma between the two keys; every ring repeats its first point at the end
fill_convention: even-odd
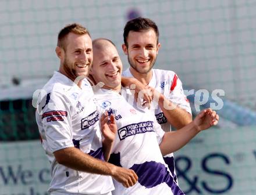
{"type": "MultiPolygon", "coordinates": [[[[154,94],[155,117],[162,129],[169,132],[171,125],[180,129],[189,124],[192,115],[189,100],[184,95],[177,74],[153,68],[161,46],[158,37],[159,30],[154,21],[143,17],[127,21],[122,48],[130,68],[123,72],[123,76],[132,78],[130,82],[136,84],[136,87],[142,84],[143,88],[154,94]]],[[[166,155],[164,159],[177,182],[173,154],[166,155]]]]}

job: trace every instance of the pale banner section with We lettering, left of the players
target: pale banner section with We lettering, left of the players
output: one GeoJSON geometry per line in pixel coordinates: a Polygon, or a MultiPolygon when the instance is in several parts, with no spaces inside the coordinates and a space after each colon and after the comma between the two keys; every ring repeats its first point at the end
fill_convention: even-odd
{"type": "Polygon", "coordinates": [[[45,195],[50,163],[40,140],[0,143],[0,195],[45,195]]]}

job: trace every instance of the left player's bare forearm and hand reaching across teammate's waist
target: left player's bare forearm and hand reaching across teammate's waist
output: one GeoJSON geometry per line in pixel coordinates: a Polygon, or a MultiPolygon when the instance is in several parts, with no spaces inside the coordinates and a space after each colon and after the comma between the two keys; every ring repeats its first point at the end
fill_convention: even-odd
{"type": "Polygon", "coordinates": [[[59,164],[72,168],[77,171],[89,172],[91,174],[110,175],[118,180],[125,187],[133,186],[138,177],[131,169],[116,167],[111,163],[91,157],[75,147],[67,147],[54,152],[56,161],[59,164]]]}

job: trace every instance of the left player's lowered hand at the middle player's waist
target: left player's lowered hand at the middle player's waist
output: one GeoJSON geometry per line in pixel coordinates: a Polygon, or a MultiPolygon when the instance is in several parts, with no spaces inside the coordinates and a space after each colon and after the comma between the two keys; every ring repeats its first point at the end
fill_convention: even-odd
{"type": "Polygon", "coordinates": [[[126,169],[122,167],[114,167],[112,169],[112,177],[118,182],[122,183],[125,187],[131,187],[138,181],[138,176],[131,169],[126,169]]]}

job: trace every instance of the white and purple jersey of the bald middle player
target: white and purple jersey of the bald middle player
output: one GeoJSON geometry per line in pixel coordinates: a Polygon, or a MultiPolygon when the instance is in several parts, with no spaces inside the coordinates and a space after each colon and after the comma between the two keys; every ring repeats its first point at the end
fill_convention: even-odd
{"type": "Polygon", "coordinates": [[[184,194],[159,149],[165,132],[153,112],[147,108],[138,109],[129,94],[129,90],[119,95],[108,89],[99,89],[94,96],[101,112],[115,115],[118,127],[109,163],[133,169],[138,175],[138,182],[128,188],[113,180],[115,190],[112,194],[184,194]]]}

